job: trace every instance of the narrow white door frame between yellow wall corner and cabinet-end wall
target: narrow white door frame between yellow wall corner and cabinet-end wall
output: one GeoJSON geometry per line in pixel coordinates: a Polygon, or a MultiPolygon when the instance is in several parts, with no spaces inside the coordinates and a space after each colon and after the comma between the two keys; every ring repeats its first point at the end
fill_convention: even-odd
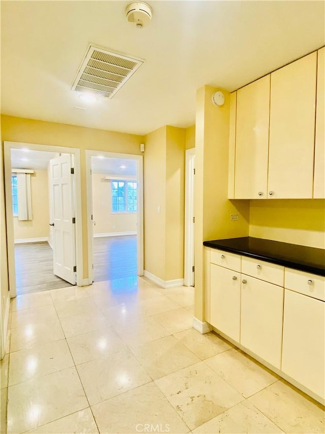
{"type": "Polygon", "coordinates": [[[195,148],[185,151],[185,234],[184,234],[184,285],[194,285],[192,271],[194,257],[194,157],[195,148]]]}

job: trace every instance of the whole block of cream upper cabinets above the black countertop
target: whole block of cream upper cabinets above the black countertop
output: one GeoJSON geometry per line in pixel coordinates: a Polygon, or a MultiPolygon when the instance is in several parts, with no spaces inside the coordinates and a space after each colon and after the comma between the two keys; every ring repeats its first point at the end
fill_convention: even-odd
{"type": "Polygon", "coordinates": [[[324,57],[323,47],[231,94],[230,199],[325,198],[324,57]]]}

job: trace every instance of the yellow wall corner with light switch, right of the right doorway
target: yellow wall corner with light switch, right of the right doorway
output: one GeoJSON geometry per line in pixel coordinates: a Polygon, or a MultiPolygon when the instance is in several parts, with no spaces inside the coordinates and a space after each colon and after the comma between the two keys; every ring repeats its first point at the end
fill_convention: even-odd
{"type": "Polygon", "coordinates": [[[164,281],[184,277],[184,174],[185,129],[164,126],[149,133],[144,158],[144,268],[164,281]]]}

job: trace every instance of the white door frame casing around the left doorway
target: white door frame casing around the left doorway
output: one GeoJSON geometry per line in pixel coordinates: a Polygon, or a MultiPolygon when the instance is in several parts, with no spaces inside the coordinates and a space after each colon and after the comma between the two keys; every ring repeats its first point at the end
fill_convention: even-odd
{"type": "Polygon", "coordinates": [[[14,217],[12,215],[12,191],[11,191],[11,149],[28,148],[31,151],[47,151],[66,153],[73,155],[74,161],[74,207],[76,215],[76,280],[78,286],[89,284],[83,279],[82,262],[82,219],[81,219],[81,170],[80,150],[77,148],[65,148],[47,144],[22,143],[4,141],[4,163],[5,163],[5,196],[6,196],[6,222],[7,222],[7,248],[8,248],[8,273],[10,297],[16,297],[16,268],[15,268],[15,237],[14,217]]]}

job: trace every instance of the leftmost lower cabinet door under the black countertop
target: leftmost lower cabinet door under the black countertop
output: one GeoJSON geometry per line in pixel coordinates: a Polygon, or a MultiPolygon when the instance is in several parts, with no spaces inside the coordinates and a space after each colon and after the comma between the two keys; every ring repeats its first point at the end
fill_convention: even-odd
{"type": "Polygon", "coordinates": [[[211,264],[210,324],[239,342],[240,273],[211,264]]]}

